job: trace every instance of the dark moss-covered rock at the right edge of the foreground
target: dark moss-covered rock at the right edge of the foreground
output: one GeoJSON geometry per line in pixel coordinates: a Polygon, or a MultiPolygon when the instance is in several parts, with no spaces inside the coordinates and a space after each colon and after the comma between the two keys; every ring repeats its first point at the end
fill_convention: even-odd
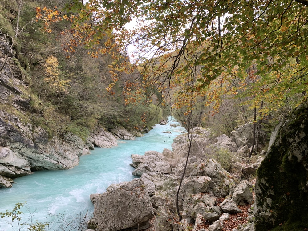
{"type": "Polygon", "coordinates": [[[307,157],[308,105],[302,104],[275,129],[257,170],[256,231],[308,228],[307,157]]]}

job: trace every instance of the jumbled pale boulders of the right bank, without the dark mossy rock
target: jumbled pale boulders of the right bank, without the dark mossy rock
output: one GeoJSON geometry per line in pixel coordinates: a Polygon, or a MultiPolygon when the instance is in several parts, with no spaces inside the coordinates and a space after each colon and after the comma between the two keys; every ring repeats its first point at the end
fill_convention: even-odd
{"type": "MultiPolygon", "coordinates": [[[[254,186],[244,180],[249,171],[244,173],[243,169],[255,170],[255,166],[250,164],[241,168],[240,173],[237,172],[241,180],[222,168],[215,159],[208,158],[209,150],[218,145],[238,151],[242,150],[244,143],[238,146],[227,136],[213,139],[209,130],[204,128],[195,128],[193,134],[192,153],[179,191],[182,220],[179,221],[177,214],[176,193],[185,166],[187,135],[174,140],[173,151],[164,149],[162,153],[132,154],[131,166],[135,168],[132,174],[140,178],[112,184],[105,193],[90,196],[94,203],[94,217],[89,221],[88,231],[218,231],[229,230],[226,224],[230,219],[241,221],[237,224],[247,223],[248,211],[252,212],[249,208],[254,201],[254,186]],[[234,214],[238,215],[234,217],[234,214]]],[[[249,145],[248,139],[245,145],[249,145]]],[[[246,155],[241,151],[237,153],[246,155]]]]}

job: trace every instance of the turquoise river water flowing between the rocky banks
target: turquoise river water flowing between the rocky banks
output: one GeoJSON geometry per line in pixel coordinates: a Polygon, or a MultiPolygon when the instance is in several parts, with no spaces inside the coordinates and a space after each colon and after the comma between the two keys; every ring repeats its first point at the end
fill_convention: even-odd
{"type": "MultiPolygon", "coordinates": [[[[169,117],[168,124],[176,123],[169,117]]],[[[95,148],[90,155],[81,156],[79,165],[68,170],[38,171],[32,175],[14,179],[12,188],[0,189],[0,211],[12,210],[16,203],[24,203],[22,221],[30,223],[50,222],[51,230],[71,229],[63,226],[61,219],[73,223],[75,217],[83,217],[88,211],[92,216],[93,205],[89,199],[92,193],[103,193],[113,183],[130,181],[134,168],[131,154],[143,155],[145,151],[162,152],[171,148],[173,139],[184,131],[183,127],[156,125],[143,137],[136,140],[119,140],[112,148],[95,148]],[[163,131],[170,131],[164,133],[163,131]]],[[[0,219],[0,231],[18,230],[16,221],[13,227],[10,219],[0,219]]],[[[26,230],[26,229],[25,229],[26,230]]]]}

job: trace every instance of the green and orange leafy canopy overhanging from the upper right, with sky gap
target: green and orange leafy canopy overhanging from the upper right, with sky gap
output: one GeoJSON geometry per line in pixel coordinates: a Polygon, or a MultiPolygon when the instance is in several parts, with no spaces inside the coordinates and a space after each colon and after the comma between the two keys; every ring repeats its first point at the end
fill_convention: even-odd
{"type": "Polygon", "coordinates": [[[290,96],[297,95],[294,104],[306,100],[307,5],[300,0],[75,0],[62,8],[62,16],[37,9],[37,17],[47,26],[61,17],[72,22],[63,32],[71,36],[68,53],[85,45],[94,57],[114,55],[111,92],[119,73],[136,68],[140,75],[125,80],[131,99],[140,89],[149,98],[160,92],[160,99],[176,92],[174,107],[186,105],[189,113],[198,97],[218,111],[221,95],[229,95],[246,97],[245,103],[266,114],[289,103],[290,96]],[[133,19],[138,26],[128,30],[133,19]],[[97,48],[105,35],[105,46],[97,48]],[[123,62],[132,44],[130,62],[123,62]]]}

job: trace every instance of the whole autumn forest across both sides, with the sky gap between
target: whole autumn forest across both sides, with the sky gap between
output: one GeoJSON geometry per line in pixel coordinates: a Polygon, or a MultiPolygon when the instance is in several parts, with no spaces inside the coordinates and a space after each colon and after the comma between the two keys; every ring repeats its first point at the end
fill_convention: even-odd
{"type": "Polygon", "coordinates": [[[305,1],[1,4],[1,32],[28,73],[30,120],[51,136],[86,137],[98,124],[142,131],[171,110],[217,134],[254,121],[258,134],[306,100],[305,1]]]}

